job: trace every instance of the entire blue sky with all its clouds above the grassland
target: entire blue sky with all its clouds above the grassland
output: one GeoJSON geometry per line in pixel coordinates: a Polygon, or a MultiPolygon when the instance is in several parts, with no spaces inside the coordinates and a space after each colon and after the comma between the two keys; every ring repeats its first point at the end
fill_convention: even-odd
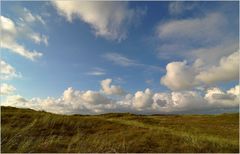
{"type": "Polygon", "coordinates": [[[61,114],[239,109],[239,2],[1,3],[1,105],[61,114]]]}

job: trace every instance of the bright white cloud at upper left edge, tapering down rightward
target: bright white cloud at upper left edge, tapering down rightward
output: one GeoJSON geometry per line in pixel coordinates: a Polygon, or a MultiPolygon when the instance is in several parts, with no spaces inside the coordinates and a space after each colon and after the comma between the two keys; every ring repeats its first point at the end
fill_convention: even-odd
{"type": "Polygon", "coordinates": [[[1,16],[1,25],[1,48],[9,49],[30,60],[35,60],[42,56],[42,53],[34,50],[30,51],[16,41],[19,31],[11,19],[1,16]]]}

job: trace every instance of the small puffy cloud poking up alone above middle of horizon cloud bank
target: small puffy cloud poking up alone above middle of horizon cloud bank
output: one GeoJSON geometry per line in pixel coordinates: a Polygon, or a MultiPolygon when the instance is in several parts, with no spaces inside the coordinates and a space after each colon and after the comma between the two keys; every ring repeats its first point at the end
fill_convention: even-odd
{"type": "Polygon", "coordinates": [[[101,81],[102,91],[107,95],[124,95],[125,91],[120,86],[111,85],[112,79],[101,81]]]}

